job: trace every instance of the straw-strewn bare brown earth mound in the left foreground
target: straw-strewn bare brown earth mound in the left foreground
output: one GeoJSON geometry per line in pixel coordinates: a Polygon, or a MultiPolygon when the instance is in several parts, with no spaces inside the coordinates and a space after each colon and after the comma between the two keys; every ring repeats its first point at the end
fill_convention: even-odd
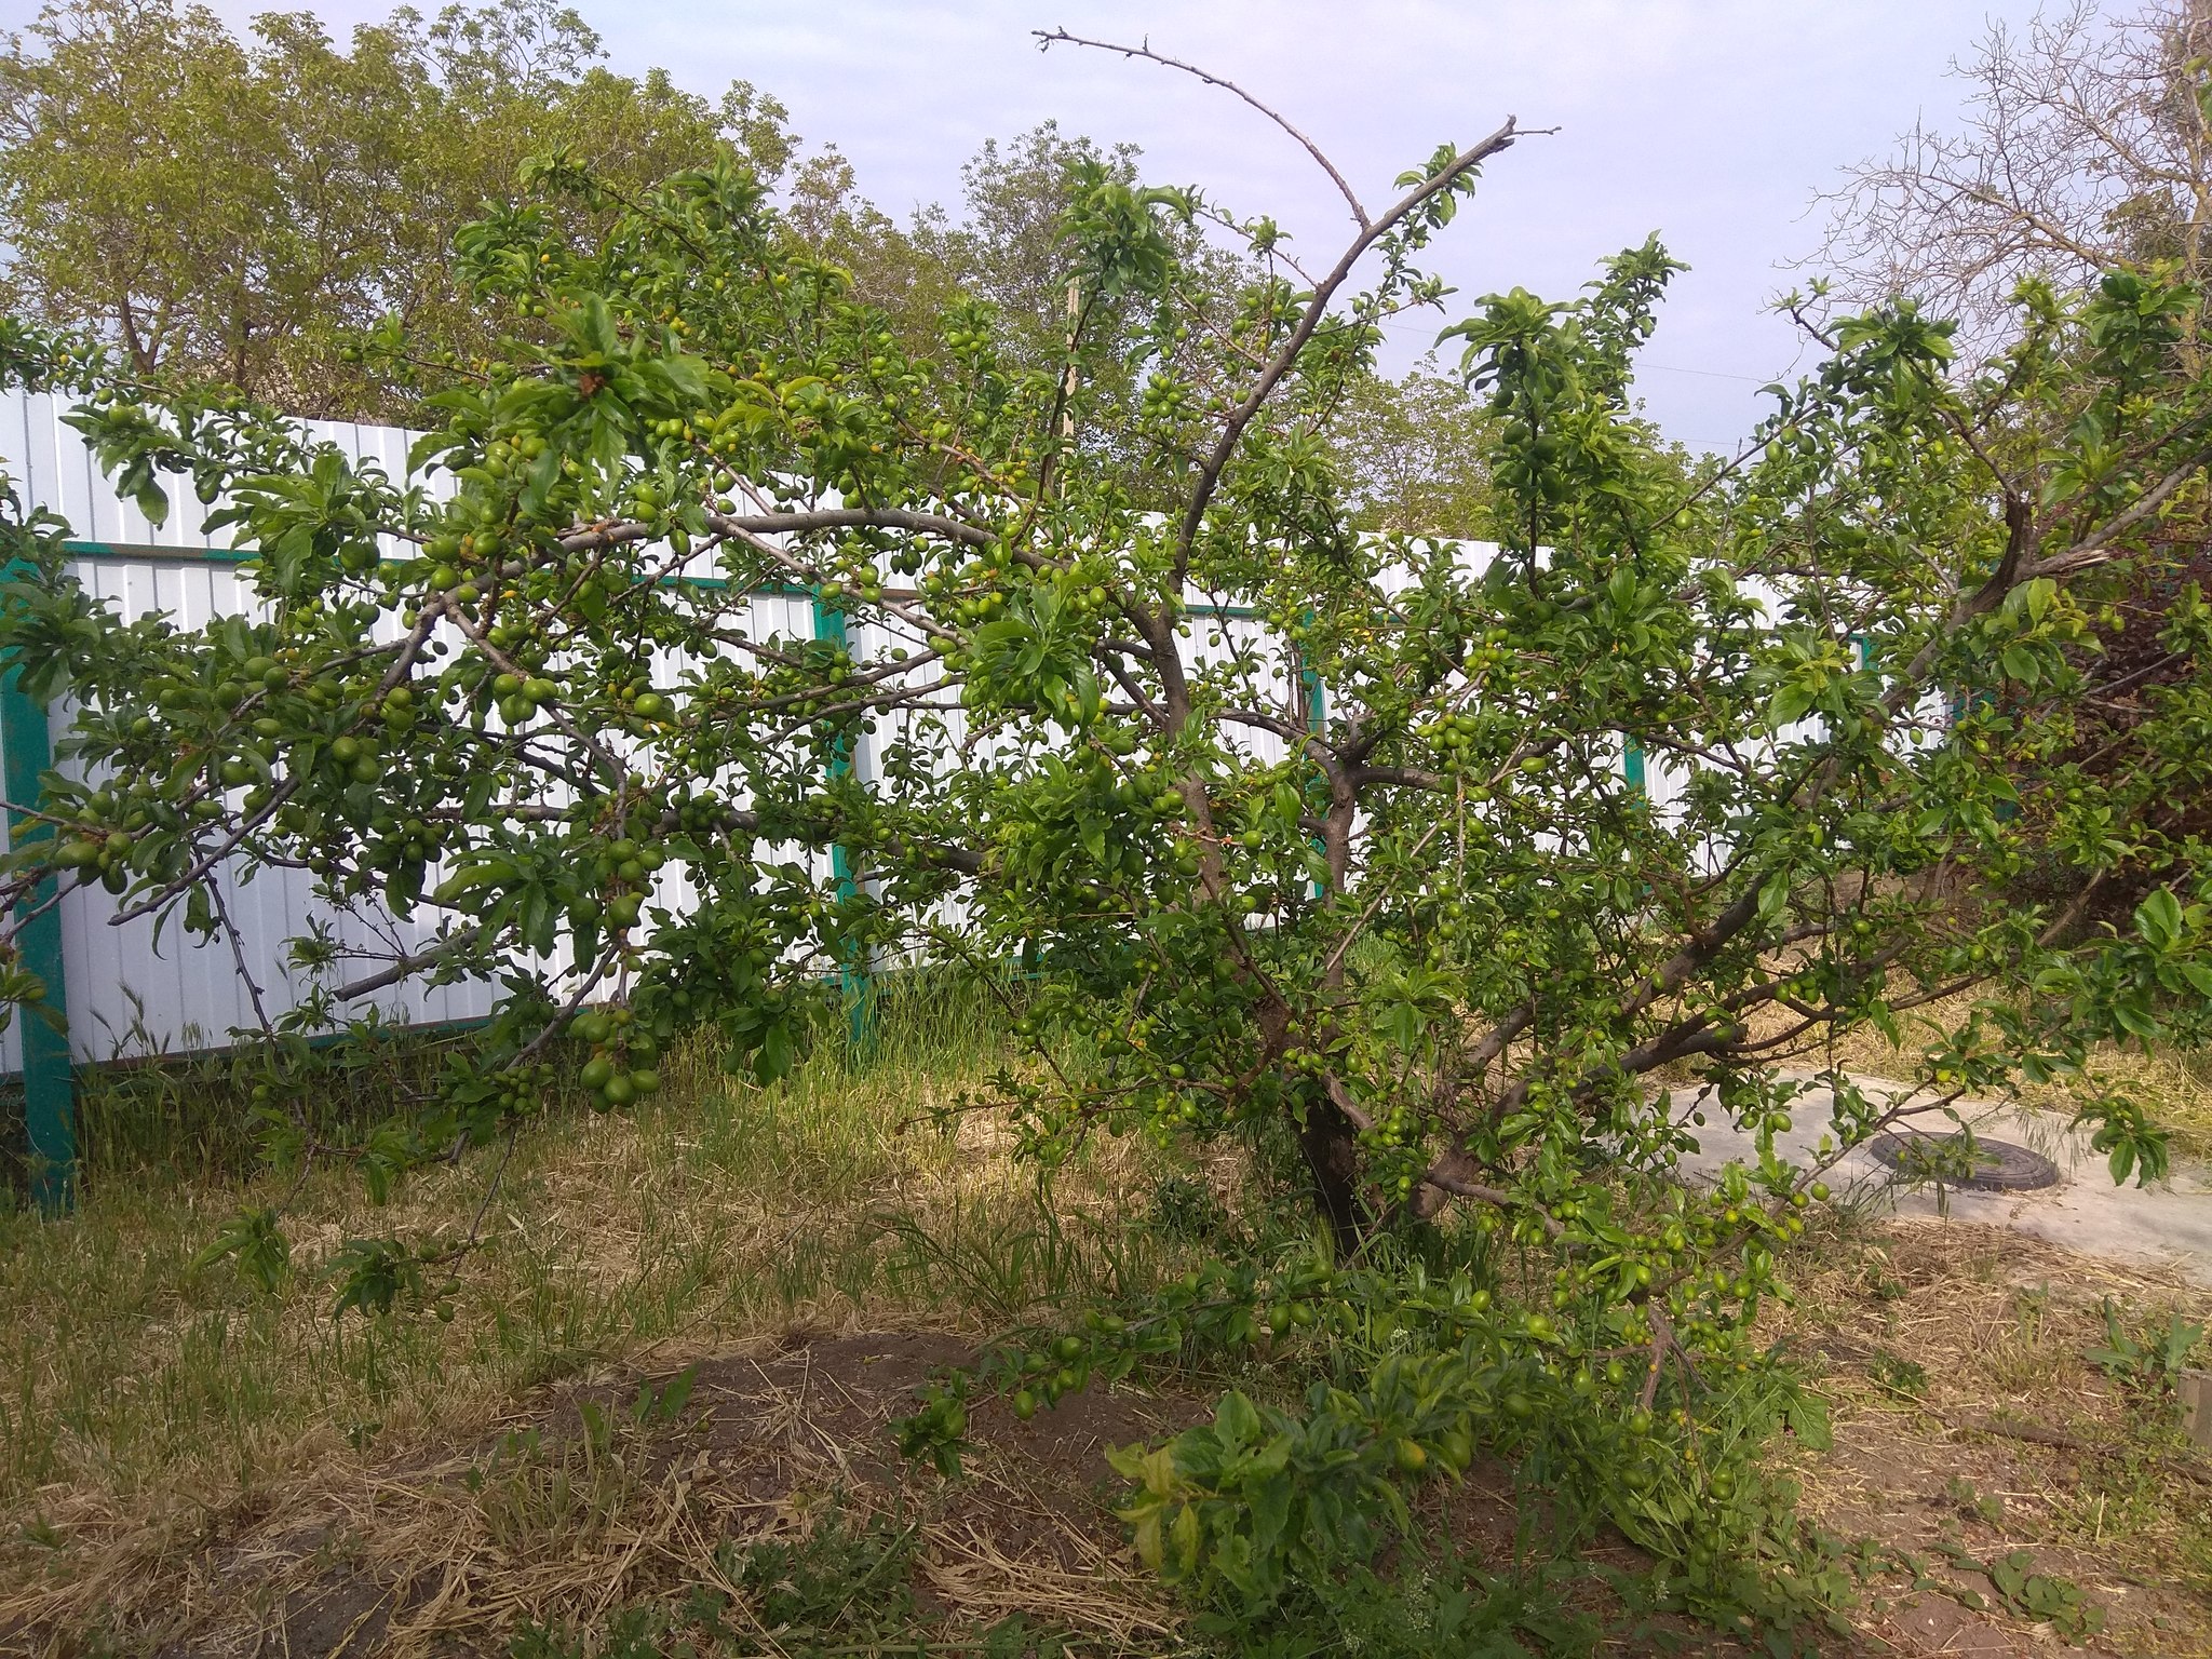
{"type": "MultiPolygon", "coordinates": [[[[1175,1615],[1141,1582],[1110,1520],[1068,1502],[1084,1420],[1117,1440],[1155,1433],[1141,1400],[1088,1402],[1040,1447],[1011,1418],[978,1425],[973,1478],[907,1478],[885,1422],[958,1343],[816,1338],[730,1354],[695,1371],[670,1422],[639,1422],[624,1385],[586,1385],[515,1413],[498,1436],[411,1462],[332,1458],[254,1502],[166,1537],[111,1542],[91,1571],[20,1584],[0,1601],[33,1641],[108,1630],[190,1652],[445,1655],[504,1648],[518,1630],[606,1630],[611,1617],[728,1635],[779,1652],[790,1630],[748,1575],[763,1544],[869,1533],[896,1582],[867,1584],[863,1553],[843,1619],[927,1588],[938,1624],[1020,1613],[1093,1650],[1157,1650],[1175,1615]],[[606,1427],[595,1438],[586,1411],[606,1427]]],[[[1095,1436],[1093,1436],[1095,1438],[1095,1436]]],[[[814,1630],[814,1635],[825,1635],[814,1630]]],[[[803,1646],[803,1644],[796,1644],[803,1646]]]]}

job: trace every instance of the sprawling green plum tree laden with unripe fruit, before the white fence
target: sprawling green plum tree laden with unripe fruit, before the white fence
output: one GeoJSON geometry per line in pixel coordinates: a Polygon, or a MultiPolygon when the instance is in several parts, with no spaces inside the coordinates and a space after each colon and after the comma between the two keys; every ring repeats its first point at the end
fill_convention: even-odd
{"type": "MultiPolygon", "coordinates": [[[[1318,283],[1248,226],[1232,292],[1190,252],[1199,201],[1082,166],[1055,356],[982,299],[914,341],[737,164],[635,204],[540,166],[460,237],[518,336],[418,447],[451,502],[22,338],[15,372],[82,385],[133,487],[159,460],[228,491],[268,619],[124,624],[58,526],[11,526],[42,580],[0,644],[75,695],[93,781],[53,783],[9,894],[62,872],[219,933],[204,878],[239,858],[445,918],[414,967],[507,995],[365,1152],[394,1168],[526,1117],[555,1033],[622,1106],[701,1024],[779,1077],[836,969],[1033,960],[1033,1064],[969,1108],[1046,1166],[1130,1130],[1294,1146],[1323,1223],[987,1367],[1035,1409],[1327,1338],[1303,1400],[1230,1396],[1130,1460],[1150,1559],[1267,1606],[1491,1442],[1679,1562],[1690,1604],[1796,1617],[1827,1568],[1759,1588],[1785,1504],[1741,1469],[1745,1425],[1818,1433],[1747,1338],[1825,1197],[1774,1152],[1792,1104],[1832,1088],[1856,1144],[2079,1075],[2099,1040],[2205,1035],[2212,872],[2181,812],[2212,765],[2212,617],[2172,606],[2177,672],[2141,695],[2097,650],[2203,489],[2194,301],[2035,292],[1973,378],[1944,325],[1856,319],[1739,460],[1690,469],[1628,405],[1677,270],[1648,243],[1573,303],[1513,292],[1453,330],[1495,422],[1495,557],[1365,533],[1332,434],[1511,137],[1438,150],[1318,283]],[[759,588],[843,628],[761,635],[759,588]],[[2124,763],[2090,776],[2081,721],[2130,697],[2124,763]],[[2028,867],[2048,900],[2017,900],[2028,867]],[[1975,991],[1918,1106],[1829,1060],[1975,991]],[[1694,1106],[1659,1086],[1683,1075],[1694,1106]],[[1756,1148],[1712,1190],[1674,1179],[1705,1117],[1756,1148]]],[[[303,960],[332,984],[270,1046],[281,1157],[323,1064],[296,1037],[387,982],[303,960]]],[[[2079,1104],[2117,1179],[2163,1166],[2128,1099],[2079,1104]]],[[[431,1254],[363,1250],[354,1305],[431,1254]]],[[[909,1449],[951,1464],[964,1411],[947,1389],[909,1449]]]]}

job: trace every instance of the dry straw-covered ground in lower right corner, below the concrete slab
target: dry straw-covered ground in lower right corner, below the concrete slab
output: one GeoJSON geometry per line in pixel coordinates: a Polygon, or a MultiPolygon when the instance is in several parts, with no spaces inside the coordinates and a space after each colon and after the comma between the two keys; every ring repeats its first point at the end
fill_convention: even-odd
{"type": "MultiPolygon", "coordinates": [[[[2024,1548],[2104,1606],[2097,1646],[2212,1652],[2212,1462],[2168,1396],[2088,1360],[2106,1303],[2128,1329],[2212,1321],[2212,1296],[2179,1279],[1986,1228],[1898,1221],[1801,1250],[1776,1334],[1825,1365],[1836,1407],[1834,1453],[1796,1460],[1805,1506],[1920,1562],[1922,1608],[1955,1590],[1995,1604],[1960,1562],[2024,1548]]],[[[1869,1628],[1907,1652],[1940,1646],[1913,1641],[1893,1608],[1869,1628]]]]}

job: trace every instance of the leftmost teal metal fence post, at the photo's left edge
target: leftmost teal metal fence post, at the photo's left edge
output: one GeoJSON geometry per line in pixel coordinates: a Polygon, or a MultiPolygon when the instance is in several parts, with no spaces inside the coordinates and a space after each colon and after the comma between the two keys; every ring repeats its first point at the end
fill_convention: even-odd
{"type": "MultiPolygon", "coordinates": [[[[20,566],[11,566],[0,582],[15,582],[20,575],[20,566]]],[[[24,695],[18,677],[13,664],[0,672],[0,754],[7,761],[0,776],[11,807],[35,807],[40,776],[53,765],[53,737],[46,730],[46,706],[24,695]]],[[[38,818],[24,812],[9,812],[9,845],[18,845],[35,823],[38,818]]],[[[75,1082],[69,1068],[69,1035],[53,1024],[69,1013],[62,914],[53,909],[53,896],[51,878],[38,885],[24,907],[40,914],[15,936],[24,969],[46,987],[40,1009],[22,1009],[15,1015],[15,1029],[22,1033],[22,1115],[31,1155],[31,1199],[46,1214],[69,1210],[77,1199],[75,1082]],[[42,905],[46,909],[40,909],[42,905]]]]}

